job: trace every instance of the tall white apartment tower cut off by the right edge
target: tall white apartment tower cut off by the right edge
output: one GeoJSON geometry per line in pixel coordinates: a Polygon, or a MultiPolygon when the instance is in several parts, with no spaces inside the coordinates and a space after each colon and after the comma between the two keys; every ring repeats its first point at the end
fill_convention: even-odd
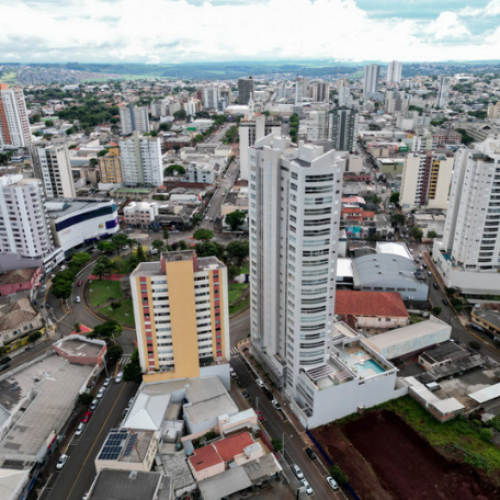
{"type": "Polygon", "coordinates": [[[500,140],[459,149],[443,249],[465,271],[500,269],[500,140]]]}

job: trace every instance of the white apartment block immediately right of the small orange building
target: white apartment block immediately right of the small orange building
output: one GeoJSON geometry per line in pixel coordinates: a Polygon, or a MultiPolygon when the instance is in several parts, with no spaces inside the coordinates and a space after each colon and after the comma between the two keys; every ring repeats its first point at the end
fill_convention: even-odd
{"type": "Polygon", "coordinates": [[[159,137],[138,132],[120,139],[123,183],[126,186],[161,186],[163,163],[159,137]]]}

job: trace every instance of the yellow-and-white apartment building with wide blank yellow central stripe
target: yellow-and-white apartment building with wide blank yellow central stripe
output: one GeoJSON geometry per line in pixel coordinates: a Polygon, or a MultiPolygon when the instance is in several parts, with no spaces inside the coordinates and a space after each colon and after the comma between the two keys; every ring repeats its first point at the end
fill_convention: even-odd
{"type": "Polygon", "coordinates": [[[162,253],[130,275],[139,360],[145,380],[228,371],[226,266],[193,250],[162,253]]]}

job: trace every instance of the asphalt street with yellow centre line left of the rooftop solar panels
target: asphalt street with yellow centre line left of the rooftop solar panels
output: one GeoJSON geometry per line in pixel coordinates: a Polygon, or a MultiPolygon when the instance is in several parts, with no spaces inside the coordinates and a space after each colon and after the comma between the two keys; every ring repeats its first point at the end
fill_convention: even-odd
{"type": "MultiPolygon", "coordinates": [[[[96,388],[97,391],[97,388],[96,388]]],[[[94,460],[110,429],[118,427],[129,399],[137,386],[111,382],[83,434],[73,437],[67,447],[69,460],[64,469],[54,471],[40,500],[81,500],[92,484],[94,460]]]]}

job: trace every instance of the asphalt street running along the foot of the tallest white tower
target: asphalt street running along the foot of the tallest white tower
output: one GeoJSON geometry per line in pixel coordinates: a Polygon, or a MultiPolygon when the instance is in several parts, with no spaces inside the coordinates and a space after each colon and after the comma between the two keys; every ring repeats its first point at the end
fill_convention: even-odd
{"type": "MultiPolygon", "coordinates": [[[[318,458],[311,460],[305,453],[306,446],[302,441],[300,433],[290,421],[284,420],[286,417],[281,411],[275,410],[271,402],[264,396],[262,390],[257,386],[253,378],[253,372],[241,359],[241,354],[231,358],[231,366],[236,371],[241,387],[245,387],[250,394],[250,404],[254,410],[262,411],[265,418],[261,422],[264,429],[271,436],[271,439],[284,441],[285,459],[288,464],[297,464],[304,477],[314,490],[314,498],[343,498],[342,494],[336,494],[326,482],[328,472],[318,458]],[[284,439],[283,439],[284,438],[284,439]]],[[[300,486],[296,479],[291,483],[294,491],[300,486]]],[[[306,497],[302,494],[302,497],[306,497]]]]}

